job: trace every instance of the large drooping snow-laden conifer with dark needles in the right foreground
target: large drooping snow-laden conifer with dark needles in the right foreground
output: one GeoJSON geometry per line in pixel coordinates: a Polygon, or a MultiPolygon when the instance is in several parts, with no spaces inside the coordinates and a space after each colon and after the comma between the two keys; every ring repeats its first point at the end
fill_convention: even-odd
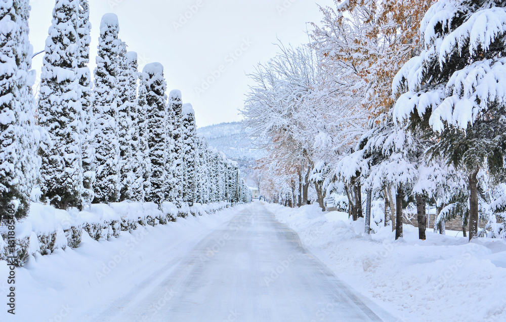
{"type": "Polygon", "coordinates": [[[440,0],[420,25],[424,50],[397,73],[394,117],[435,131],[433,155],[469,175],[469,238],[478,235],[478,173],[504,179],[506,14],[503,1],[440,0]]]}

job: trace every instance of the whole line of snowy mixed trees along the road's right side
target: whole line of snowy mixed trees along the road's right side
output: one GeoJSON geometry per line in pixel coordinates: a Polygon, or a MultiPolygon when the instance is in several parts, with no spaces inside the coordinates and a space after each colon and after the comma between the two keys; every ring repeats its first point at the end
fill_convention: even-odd
{"type": "Polygon", "coordinates": [[[354,220],[366,216],[367,232],[370,200],[382,199],[381,224],[396,238],[409,204],[421,239],[427,204],[441,233],[459,217],[469,238],[506,236],[505,6],[336,0],[320,8],[309,44],[280,44],[250,75],[245,125],[270,150],[262,194],[299,206],[314,194],[324,210],[326,196],[342,193],[354,220]]]}

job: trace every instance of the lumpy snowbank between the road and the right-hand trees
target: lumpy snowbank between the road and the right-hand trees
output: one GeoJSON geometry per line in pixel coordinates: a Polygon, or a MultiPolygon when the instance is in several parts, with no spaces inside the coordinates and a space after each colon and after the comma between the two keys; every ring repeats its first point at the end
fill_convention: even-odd
{"type": "Polygon", "coordinates": [[[364,234],[363,219],[322,213],[314,205],[266,205],[297,231],[335,274],[401,321],[506,320],[506,242],[467,238],[404,225],[395,241],[390,227],[364,234]]]}

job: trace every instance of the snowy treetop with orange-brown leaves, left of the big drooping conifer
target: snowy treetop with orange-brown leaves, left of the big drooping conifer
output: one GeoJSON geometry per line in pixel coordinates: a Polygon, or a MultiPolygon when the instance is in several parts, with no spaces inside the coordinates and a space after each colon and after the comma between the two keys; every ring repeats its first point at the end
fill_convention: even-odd
{"type": "Polygon", "coordinates": [[[323,25],[313,24],[313,45],[323,61],[339,61],[338,66],[348,68],[339,71],[343,76],[360,77],[353,90],[364,90],[361,106],[376,123],[394,104],[395,74],[420,51],[420,22],[434,2],[335,0],[335,10],[320,8],[323,25]]]}

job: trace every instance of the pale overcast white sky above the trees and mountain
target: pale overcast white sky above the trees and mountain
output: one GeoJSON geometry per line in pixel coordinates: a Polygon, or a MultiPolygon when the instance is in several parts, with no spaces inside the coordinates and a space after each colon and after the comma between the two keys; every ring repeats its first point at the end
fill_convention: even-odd
{"type": "MultiPolygon", "coordinates": [[[[140,68],[150,62],[164,66],[168,91],[179,89],[183,101],[192,103],[197,126],[240,120],[246,73],[275,55],[276,37],[294,46],[307,43],[306,23],[321,20],[316,3],[331,6],[333,0],[90,0],[90,69],[93,73],[102,15],[115,13],[120,38],[138,53],[140,68]],[[185,14],[190,18],[175,26],[185,14]],[[214,81],[208,88],[202,84],[207,78],[214,81]]],[[[54,4],[31,1],[34,52],[44,50],[54,4]]],[[[33,59],[37,74],[42,57],[33,59]]]]}

